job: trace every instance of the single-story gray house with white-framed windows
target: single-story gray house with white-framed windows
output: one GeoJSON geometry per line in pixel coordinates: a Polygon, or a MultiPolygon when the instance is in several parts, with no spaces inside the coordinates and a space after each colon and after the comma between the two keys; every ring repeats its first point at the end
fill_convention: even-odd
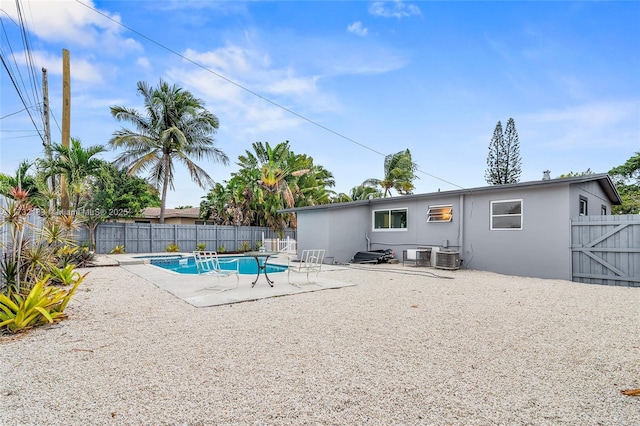
{"type": "Polygon", "coordinates": [[[299,250],[346,263],[359,251],[455,250],[461,267],[572,279],[571,218],[610,215],[621,203],[607,174],[379,198],[284,210],[299,250]]]}

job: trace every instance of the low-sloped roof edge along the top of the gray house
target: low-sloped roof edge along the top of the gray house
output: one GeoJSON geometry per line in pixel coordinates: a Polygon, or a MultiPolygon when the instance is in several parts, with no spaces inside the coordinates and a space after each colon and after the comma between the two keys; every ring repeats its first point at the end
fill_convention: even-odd
{"type": "MultiPolygon", "coordinates": [[[[425,194],[413,194],[413,195],[402,195],[403,200],[411,200],[411,199],[428,199],[442,196],[457,196],[462,194],[474,194],[478,192],[489,192],[489,191],[504,191],[507,189],[518,189],[518,188],[530,188],[536,186],[543,185],[571,185],[578,184],[584,182],[593,182],[596,181],[602,188],[602,190],[607,194],[611,204],[620,205],[622,204],[622,199],[620,198],[620,194],[616,189],[613,181],[609,177],[607,173],[598,173],[598,174],[590,174],[584,176],[574,176],[568,178],[556,178],[556,179],[547,179],[547,180],[534,180],[529,182],[520,182],[520,183],[512,183],[507,185],[489,185],[482,186],[477,188],[463,188],[463,189],[455,189],[451,191],[438,191],[438,192],[429,192],[425,194]]],[[[334,204],[321,204],[318,206],[309,206],[309,207],[294,207],[291,209],[283,209],[279,210],[280,213],[291,213],[297,211],[307,211],[307,210],[323,210],[323,209],[339,209],[339,208],[347,208],[354,207],[358,205],[369,205],[369,204],[380,204],[380,203],[388,203],[393,200],[397,200],[398,197],[391,198],[373,198],[370,200],[358,200],[358,201],[348,201],[344,203],[334,203],[334,204]]]]}

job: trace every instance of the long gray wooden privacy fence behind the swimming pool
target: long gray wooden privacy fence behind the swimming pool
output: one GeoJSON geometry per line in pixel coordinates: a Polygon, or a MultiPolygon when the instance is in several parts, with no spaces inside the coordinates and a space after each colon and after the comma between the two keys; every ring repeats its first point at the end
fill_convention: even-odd
{"type": "MultiPolygon", "coordinates": [[[[115,246],[124,246],[127,253],[166,252],[167,246],[175,244],[180,251],[189,252],[204,243],[206,250],[241,251],[246,243],[255,249],[262,237],[277,238],[268,227],[218,226],[218,225],[160,225],[156,223],[105,222],[96,229],[96,253],[109,253],[115,246]]],[[[287,229],[284,238],[295,239],[296,232],[287,229]]],[[[77,242],[89,241],[88,231],[77,233],[77,242]]]]}

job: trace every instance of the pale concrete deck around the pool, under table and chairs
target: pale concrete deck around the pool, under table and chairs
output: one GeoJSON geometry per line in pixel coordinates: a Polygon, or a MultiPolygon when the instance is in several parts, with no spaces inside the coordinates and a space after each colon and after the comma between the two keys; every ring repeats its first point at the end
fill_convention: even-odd
{"type": "MultiPolygon", "coordinates": [[[[232,303],[249,302],[270,297],[289,296],[311,291],[321,291],[349,287],[355,284],[344,283],[323,277],[322,272],[318,276],[310,274],[307,282],[306,274],[292,273],[291,281],[300,285],[296,287],[287,281],[287,272],[269,273],[269,278],[274,281],[273,287],[267,284],[264,275],[260,275],[254,287],[252,282],[256,274],[239,276],[237,288],[235,277],[220,278],[216,289],[208,289],[218,285],[218,278],[210,275],[179,274],[158,266],[151,265],[149,258],[143,256],[191,256],[191,253],[136,253],[117,255],[97,255],[96,266],[120,266],[127,271],[153,283],[162,290],[184,300],[195,307],[219,306],[232,303]],[[220,290],[224,289],[224,291],[220,290]]],[[[286,265],[285,254],[269,259],[270,264],[286,265]]],[[[322,271],[344,269],[336,265],[323,265],[322,271]]]]}

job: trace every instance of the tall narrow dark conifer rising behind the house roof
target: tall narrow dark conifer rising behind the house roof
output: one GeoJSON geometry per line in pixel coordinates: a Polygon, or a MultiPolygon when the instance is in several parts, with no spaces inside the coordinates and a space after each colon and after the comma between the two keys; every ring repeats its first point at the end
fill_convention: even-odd
{"type": "Polygon", "coordinates": [[[515,121],[509,118],[504,133],[502,123],[498,121],[489,143],[485,180],[490,185],[517,183],[522,173],[521,165],[520,140],[515,121]]]}

